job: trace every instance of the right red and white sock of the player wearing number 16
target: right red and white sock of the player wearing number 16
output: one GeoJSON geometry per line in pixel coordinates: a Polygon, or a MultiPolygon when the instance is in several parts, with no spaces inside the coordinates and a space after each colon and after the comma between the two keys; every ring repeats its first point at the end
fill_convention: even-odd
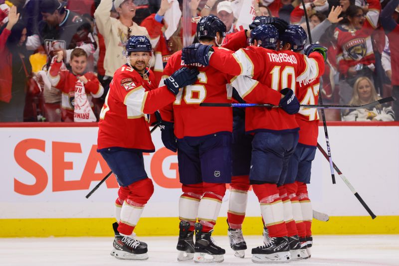
{"type": "Polygon", "coordinates": [[[209,232],[216,224],[221,201],[226,192],[226,184],[202,183],[203,195],[198,207],[198,221],[202,225],[202,232],[209,232]]]}

